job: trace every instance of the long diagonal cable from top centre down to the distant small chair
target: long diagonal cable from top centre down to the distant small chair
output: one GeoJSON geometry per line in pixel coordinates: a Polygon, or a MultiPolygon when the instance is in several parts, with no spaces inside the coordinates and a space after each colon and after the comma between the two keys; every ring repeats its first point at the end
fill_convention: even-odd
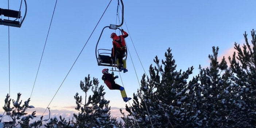
{"type": "MultiPolygon", "coordinates": [[[[112,1],[112,0],[110,0],[110,1],[109,1],[108,6],[110,5],[111,1],[112,1]]],[[[106,9],[108,9],[108,6],[106,7],[106,9]]],[[[80,51],[80,53],[78,54],[78,57],[75,59],[75,62],[77,62],[77,59],[78,59],[78,58],[79,58],[79,56],[81,55],[81,53],[82,53],[82,51],[84,50],[84,48],[85,48],[86,44],[88,43],[89,39],[91,38],[91,36],[92,36],[93,32],[95,31],[96,27],[97,27],[97,26],[98,26],[98,24],[100,23],[101,18],[103,17],[104,13],[106,12],[106,9],[105,9],[105,11],[103,12],[103,14],[101,15],[101,17],[100,17],[100,19],[99,19],[98,23],[96,24],[96,26],[94,27],[94,29],[93,29],[93,31],[92,31],[92,33],[91,33],[91,35],[89,36],[88,40],[86,41],[86,43],[85,43],[85,45],[84,45],[84,47],[82,48],[82,50],[81,50],[81,51],[80,51]]],[[[71,69],[72,69],[72,68],[73,68],[73,66],[75,65],[75,62],[74,62],[74,63],[73,63],[73,65],[71,66],[71,68],[70,68],[70,70],[68,71],[67,75],[69,75],[69,73],[70,73],[71,69]]],[[[61,88],[62,84],[63,84],[63,83],[64,83],[64,81],[66,80],[67,75],[66,75],[66,77],[63,79],[63,81],[62,81],[61,85],[59,86],[59,88],[58,88],[57,92],[59,91],[59,89],[61,88]]],[[[51,102],[53,101],[54,97],[56,96],[57,92],[54,94],[54,96],[53,96],[53,98],[51,99],[51,101],[50,101],[49,105],[47,106],[47,108],[49,108],[49,106],[50,106],[51,102]]],[[[44,112],[43,112],[42,116],[44,115],[44,113],[45,113],[45,111],[46,111],[46,110],[47,110],[47,109],[45,109],[45,110],[44,110],[44,112]]]]}

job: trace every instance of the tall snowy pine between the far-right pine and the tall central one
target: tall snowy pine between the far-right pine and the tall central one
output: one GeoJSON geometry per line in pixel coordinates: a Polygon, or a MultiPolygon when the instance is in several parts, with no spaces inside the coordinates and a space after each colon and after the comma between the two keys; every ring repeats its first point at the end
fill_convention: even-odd
{"type": "Polygon", "coordinates": [[[227,117],[231,110],[232,86],[231,72],[225,57],[218,62],[218,47],[212,47],[213,55],[209,55],[210,67],[199,66],[200,85],[196,87],[198,110],[201,115],[202,127],[223,128],[227,125],[227,117]],[[230,102],[231,101],[231,102],[230,102]]]}

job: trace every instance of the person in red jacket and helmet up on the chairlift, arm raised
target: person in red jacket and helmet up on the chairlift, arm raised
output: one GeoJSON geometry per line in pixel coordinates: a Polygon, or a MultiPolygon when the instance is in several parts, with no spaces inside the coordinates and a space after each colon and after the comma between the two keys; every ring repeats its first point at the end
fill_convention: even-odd
{"type": "Polygon", "coordinates": [[[117,36],[116,33],[112,33],[110,36],[110,38],[113,39],[112,57],[116,58],[116,64],[119,71],[124,70],[124,73],[126,73],[128,71],[126,69],[126,60],[123,59],[126,51],[124,38],[127,38],[128,34],[123,29],[121,31],[124,33],[123,35],[117,36]]]}

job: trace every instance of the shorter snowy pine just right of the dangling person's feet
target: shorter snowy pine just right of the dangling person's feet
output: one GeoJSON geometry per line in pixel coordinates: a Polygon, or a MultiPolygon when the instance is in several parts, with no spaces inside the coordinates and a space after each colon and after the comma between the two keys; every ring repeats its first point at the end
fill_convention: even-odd
{"type": "MultiPolygon", "coordinates": [[[[152,65],[150,66],[152,71],[152,65]]],[[[152,79],[159,82],[159,76],[152,73],[152,79]],[[154,78],[153,78],[154,77],[154,78]],[[158,78],[157,78],[158,77],[158,78]]],[[[167,120],[160,116],[161,109],[159,106],[159,101],[156,99],[154,94],[155,82],[149,79],[144,74],[141,79],[141,87],[137,90],[137,94],[133,94],[133,104],[129,108],[126,105],[126,110],[130,113],[127,117],[123,117],[125,128],[151,128],[152,125],[155,128],[166,127],[166,124],[162,124],[161,121],[167,120]],[[152,124],[151,124],[152,122],[152,124]]],[[[162,112],[162,114],[164,114],[162,112]]]]}

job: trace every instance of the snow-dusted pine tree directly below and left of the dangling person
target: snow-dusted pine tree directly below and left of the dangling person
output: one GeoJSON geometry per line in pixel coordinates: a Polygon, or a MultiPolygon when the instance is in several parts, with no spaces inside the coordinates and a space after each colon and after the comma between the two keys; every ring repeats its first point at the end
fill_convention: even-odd
{"type": "Polygon", "coordinates": [[[116,127],[115,119],[110,119],[109,101],[105,100],[103,86],[98,85],[98,79],[93,78],[90,80],[90,75],[85,77],[85,81],[80,82],[80,88],[85,92],[85,101],[82,102],[82,96],[75,94],[75,103],[77,104],[76,110],[79,111],[78,115],[74,114],[76,123],[74,127],[79,128],[113,128],[116,127]],[[88,97],[88,90],[92,88],[93,95],[88,97]]]}

